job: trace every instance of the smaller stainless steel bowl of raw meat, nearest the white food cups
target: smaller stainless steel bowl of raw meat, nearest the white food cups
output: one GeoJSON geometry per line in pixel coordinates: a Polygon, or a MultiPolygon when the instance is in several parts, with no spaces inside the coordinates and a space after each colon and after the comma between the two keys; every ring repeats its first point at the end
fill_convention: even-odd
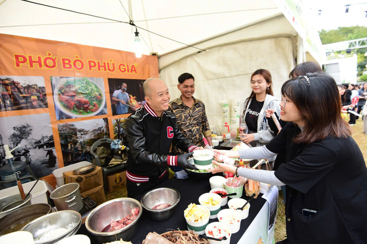
{"type": "Polygon", "coordinates": [[[181,196],[176,189],[162,187],[145,193],[140,203],[148,212],[150,218],[162,221],[172,217],[180,198],[181,196]],[[171,206],[163,209],[152,209],[154,206],[163,203],[171,204],[171,206]]]}

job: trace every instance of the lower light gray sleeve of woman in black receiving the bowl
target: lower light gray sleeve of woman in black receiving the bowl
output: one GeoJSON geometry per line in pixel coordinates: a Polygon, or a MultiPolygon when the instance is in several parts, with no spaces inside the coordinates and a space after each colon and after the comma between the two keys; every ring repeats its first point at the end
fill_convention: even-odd
{"type": "Polygon", "coordinates": [[[285,185],[282,181],[280,181],[277,176],[274,174],[275,171],[268,170],[259,170],[259,169],[250,169],[250,168],[238,168],[238,175],[246,177],[248,179],[256,180],[259,182],[263,182],[266,184],[282,186],[285,185]]]}

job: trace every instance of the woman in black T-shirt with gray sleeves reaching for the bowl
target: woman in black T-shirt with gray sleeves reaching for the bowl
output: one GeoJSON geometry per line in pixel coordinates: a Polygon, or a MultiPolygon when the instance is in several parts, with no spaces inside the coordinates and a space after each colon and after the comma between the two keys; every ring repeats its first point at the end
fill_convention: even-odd
{"type": "Polygon", "coordinates": [[[287,239],[279,243],[367,243],[364,211],[367,168],[348,123],[334,79],[324,73],[284,83],[281,119],[289,121],[266,146],[217,150],[228,157],[268,158],[285,153],[277,171],[214,164],[252,180],[287,185],[287,239]],[[347,149],[347,150],[346,150],[347,149]]]}

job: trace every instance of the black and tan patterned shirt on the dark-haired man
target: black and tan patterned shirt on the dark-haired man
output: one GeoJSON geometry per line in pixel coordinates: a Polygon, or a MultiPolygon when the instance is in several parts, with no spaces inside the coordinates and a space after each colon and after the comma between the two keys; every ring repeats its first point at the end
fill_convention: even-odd
{"type": "MultiPolygon", "coordinates": [[[[194,98],[194,104],[189,108],[179,98],[174,99],[169,103],[168,111],[176,115],[176,120],[182,134],[186,136],[196,146],[204,146],[203,135],[208,137],[212,134],[209,128],[207,114],[205,112],[204,103],[194,98]]],[[[185,153],[173,145],[175,154],[185,153]]]]}

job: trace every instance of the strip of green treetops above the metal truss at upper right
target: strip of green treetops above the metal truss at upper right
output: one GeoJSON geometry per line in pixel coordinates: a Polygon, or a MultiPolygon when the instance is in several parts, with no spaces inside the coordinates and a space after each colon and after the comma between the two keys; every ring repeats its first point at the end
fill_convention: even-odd
{"type": "Polygon", "coordinates": [[[336,30],[321,30],[319,32],[322,44],[337,43],[367,37],[367,27],[339,27],[336,30]]]}

